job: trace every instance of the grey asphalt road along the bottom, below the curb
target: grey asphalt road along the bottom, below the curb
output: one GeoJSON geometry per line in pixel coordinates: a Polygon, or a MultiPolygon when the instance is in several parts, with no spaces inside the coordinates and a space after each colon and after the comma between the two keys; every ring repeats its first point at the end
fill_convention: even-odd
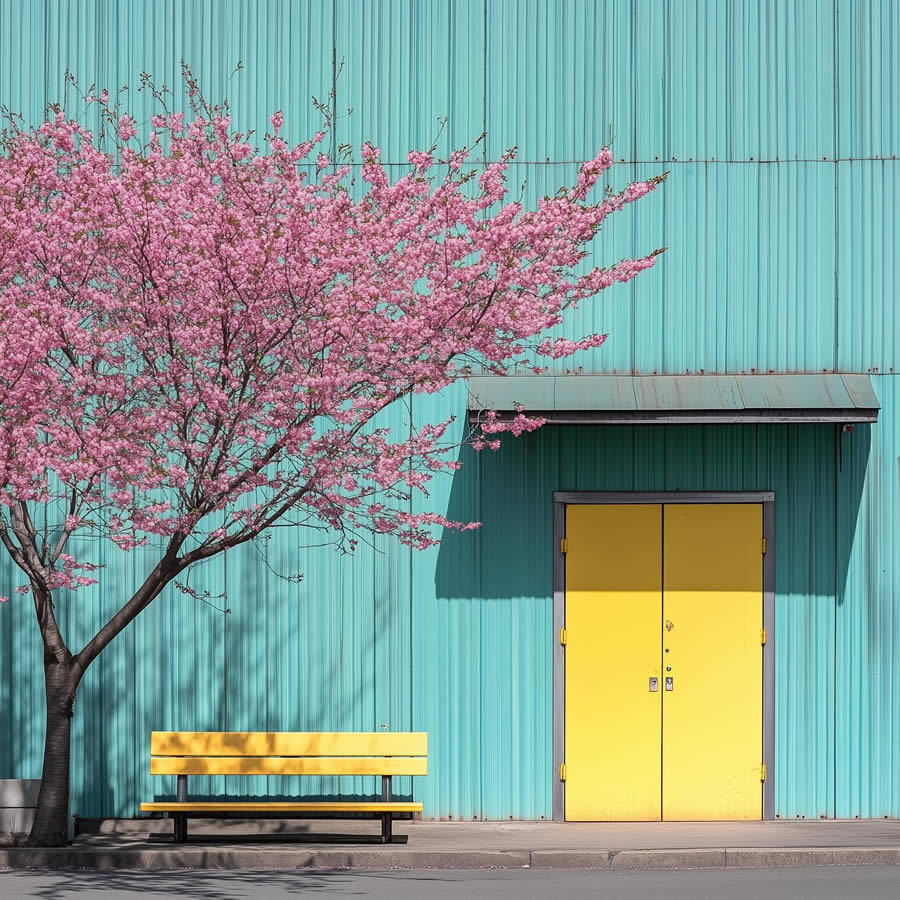
{"type": "Polygon", "coordinates": [[[434,870],[416,872],[0,872],[0,898],[436,897],[497,900],[897,900],[900,867],[682,869],[587,872],[434,870]]]}

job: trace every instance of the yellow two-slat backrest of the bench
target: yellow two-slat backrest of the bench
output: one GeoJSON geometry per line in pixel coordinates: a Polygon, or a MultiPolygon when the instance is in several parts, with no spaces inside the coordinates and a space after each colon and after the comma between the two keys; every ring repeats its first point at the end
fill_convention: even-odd
{"type": "Polygon", "coordinates": [[[151,775],[427,775],[424,731],[154,731],[151,775]]]}

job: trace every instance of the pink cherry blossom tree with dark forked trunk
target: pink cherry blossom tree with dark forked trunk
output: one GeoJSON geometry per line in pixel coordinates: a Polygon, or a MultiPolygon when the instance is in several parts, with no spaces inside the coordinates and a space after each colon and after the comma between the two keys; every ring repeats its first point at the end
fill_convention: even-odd
{"type": "MultiPolygon", "coordinates": [[[[595,189],[608,149],[526,209],[512,154],[475,169],[466,149],[415,151],[392,180],[366,144],[354,183],[324,133],[288,145],[278,112],[255,146],[227,106],[190,95],[187,115],[140,127],[88,98],[111,143],[59,110],[10,119],[0,153],[0,542],[21,571],[0,593],[33,602],[43,642],[35,844],[65,840],[79,682],[167,585],[276,523],[345,549],[475,527],[409,511],[458,466],[449,422],[397,435],[378,413],[472,367],[539,371],[599,346],[547,331],[657,255],[585,262],[607,217],[660,180],[595,189]],[[103,574],[72,549],[96,540],[73,535],[155,553],[83,647],[58,605],[103,574]]],[[[466,440],[496,449],[539,424],[489,414],[466,440]]]]}

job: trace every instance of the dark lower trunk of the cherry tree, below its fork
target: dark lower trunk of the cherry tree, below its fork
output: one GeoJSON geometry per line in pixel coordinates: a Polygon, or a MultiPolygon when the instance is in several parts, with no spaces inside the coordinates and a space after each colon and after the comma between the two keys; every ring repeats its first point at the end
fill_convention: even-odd
{"type": "Polygon", "coordinates": [[[47,695],[47,734],[44,738],[44,768],[41,790],[28,843],[36,847],[59,847],[68,839],[69,752],[72,706],[71,665],[44,653],[44,684],[47,695]]]}

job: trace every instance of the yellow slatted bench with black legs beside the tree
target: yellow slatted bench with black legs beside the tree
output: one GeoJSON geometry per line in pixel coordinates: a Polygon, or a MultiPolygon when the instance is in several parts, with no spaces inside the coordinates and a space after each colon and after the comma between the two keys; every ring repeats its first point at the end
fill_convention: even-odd
{"type": "Polygon", "coordinates": [[[141,811],[172,815],[178,842],[187,840],[188,818],[357,813],[379,816],[390,843],[395,815],[422,812],[421,803],[391,799],[391,778],[427,773],[426,732],[154,731],[150,774],[177,776],[175,800],[142,803],[141,811]],[[380,775],[381,799],[189,801],[188,775],[380,775]]]}

